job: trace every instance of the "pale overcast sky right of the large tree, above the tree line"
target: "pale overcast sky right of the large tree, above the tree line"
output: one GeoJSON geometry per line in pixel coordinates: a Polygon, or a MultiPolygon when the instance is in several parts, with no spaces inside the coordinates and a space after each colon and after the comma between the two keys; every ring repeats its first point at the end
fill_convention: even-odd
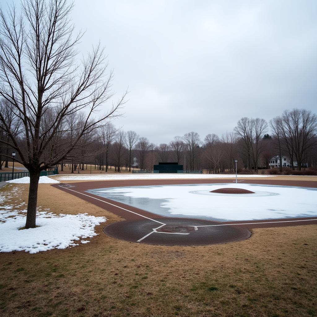
{"type": "Polygon", "coordinates": [[[83,53],[100,40],[114,69],[115,121],[154,143],[232,131],[241,117],[317,112],[317,1],[76,0],[83,53]]]}

